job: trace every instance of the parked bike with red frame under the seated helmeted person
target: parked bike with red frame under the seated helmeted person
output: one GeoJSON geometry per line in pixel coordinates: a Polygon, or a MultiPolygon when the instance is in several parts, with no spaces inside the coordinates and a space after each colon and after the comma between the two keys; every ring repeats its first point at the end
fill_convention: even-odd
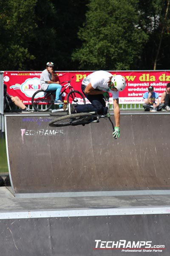
{"type": "MultiPolygon", "coordinates": [[[[74,76],[72,76],[71,80],[73,79],[73,77],[74,76]]],[[[85,97],[79,91],[74,90],[74,88],[70,84],[71,80],[63,81],[61,83],[61,84],[63,83],[66,83],[66,84],[62,87],[64,88],[64,90],[61,91],[59,96],[62,96],[62,94],[65,93],[65,91],[68,89],[69,93],[67,95],[67,104],[77,103],[78,99],[81,99],[82,103],[85,104],[85,97]]],[[[54,91],[50,90],[45,92],[44,90],[37,90],[31,98],[31,103],[34,110],[44,112],[51,109],[51,107],[54,105],[54,100],[55,100],[54,91]]]]}

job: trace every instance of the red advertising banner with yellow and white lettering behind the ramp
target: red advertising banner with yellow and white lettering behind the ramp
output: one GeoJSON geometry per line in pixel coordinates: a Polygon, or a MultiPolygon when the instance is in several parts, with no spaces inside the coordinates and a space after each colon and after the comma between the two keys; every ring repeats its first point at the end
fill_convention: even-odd
{"type": "MultiPolygon", "coordinates": [[[[143,94],[152,85],[154,91],[161,94],[170,82],[170,71],[109,71],[113,75],[121,74],[125,77],[126,88],[119,93],[119,103],[143,103],[143,94]]],[[[74,90],[81,91],[82,80],[92,71],[58,71],[60,83],[71,80],[74,90]]],[[[4,84],[7,85],[9,95],[18,96],[24,104],[31,104],[31,97],[36,90],[40,90],[41,71],[4,71],[4,84]]],[[[66,82],[65,82],[66,83],[66,82]]],[[[64,85],[64,83],[62,84],[64,85]]],[[[65,98],[66,95],[63,95],[65,98]]]]}

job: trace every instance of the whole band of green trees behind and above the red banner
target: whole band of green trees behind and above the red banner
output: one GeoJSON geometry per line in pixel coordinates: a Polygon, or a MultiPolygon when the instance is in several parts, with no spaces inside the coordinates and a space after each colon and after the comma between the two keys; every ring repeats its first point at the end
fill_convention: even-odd
{"type": "Polygon", "coordinates": [[[170,0],[0,0],[0,70],[168,69],[170,0]]]}

